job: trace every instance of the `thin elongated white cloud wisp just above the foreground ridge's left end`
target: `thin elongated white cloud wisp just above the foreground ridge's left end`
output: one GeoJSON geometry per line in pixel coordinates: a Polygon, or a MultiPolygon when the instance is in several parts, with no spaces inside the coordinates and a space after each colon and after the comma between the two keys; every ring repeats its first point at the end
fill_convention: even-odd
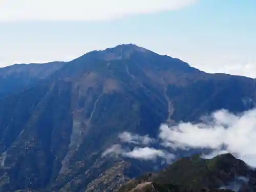
{"type": "Polygon", "coordinates": [[[106,155],[121,155],[123,157],[129,157],[138,160],[156,160],[161,158],[166,163],[170,163],[175,156],[166,151],[157,150],[153,147],[134,147],[133,150],[124,150],[120,144],[114,144],[102,153],[102,156],[106,155]]]}

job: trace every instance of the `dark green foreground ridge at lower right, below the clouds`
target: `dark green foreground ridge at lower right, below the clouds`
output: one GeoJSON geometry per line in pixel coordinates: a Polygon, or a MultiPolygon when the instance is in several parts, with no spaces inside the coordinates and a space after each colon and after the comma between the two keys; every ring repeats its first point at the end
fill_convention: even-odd
{"type": "Polygon", "coordinates": [[[200,155],[181,158],[156,174],[147,174],[124,184],[118,192],[143,191],[150,188],[167,191],[255,191],[256,172],[231,154],[212,159],[200,155]],[[140,190],[139,190],[140,189],[140,190]]]}

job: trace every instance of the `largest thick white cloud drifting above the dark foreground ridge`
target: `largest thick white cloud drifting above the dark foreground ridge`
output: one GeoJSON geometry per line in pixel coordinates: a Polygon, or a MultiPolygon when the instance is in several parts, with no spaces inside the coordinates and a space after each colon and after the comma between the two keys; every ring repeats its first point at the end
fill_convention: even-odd
{"type": "Polygon", "coordinates": [[[177,126],[160,127],[159,137],[173,148],[210,148],[216,153],[225,150],[256,166],[256,109],[233,115],[225,110],[211,115],[210,122],[181,122],[177,126]]]}

